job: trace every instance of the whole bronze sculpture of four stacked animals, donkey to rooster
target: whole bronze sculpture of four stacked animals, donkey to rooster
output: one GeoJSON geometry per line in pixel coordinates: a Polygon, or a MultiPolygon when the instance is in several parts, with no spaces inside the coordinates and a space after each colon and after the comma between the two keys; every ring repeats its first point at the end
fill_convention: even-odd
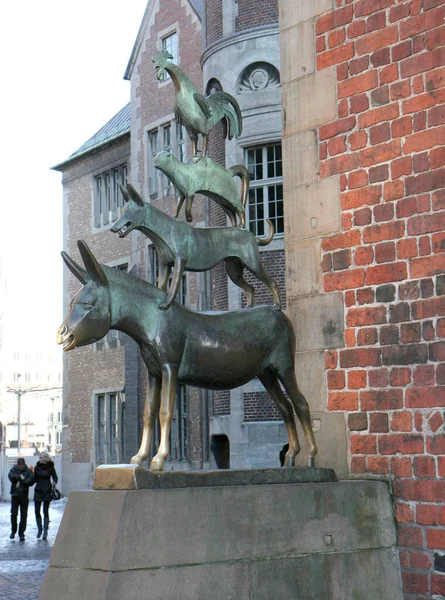
{"type": "Polygon", "coordinates": [[[203,193],[221,205],[232,227],[193,228],[144,202],[131,184],[121,186],[126,206],[111,231],[125,237],[138,229],[152,240],[159,257],[158,288],[128,273],[100,265],[86,243],[79,241],[85,268],[62,252],[66,265],[83,288],[71,302],[69,313],[58,330],[57,342],[63,344],[64,351],[69,351],[94,343],[110,329],[117,329],[138,344],[148,372],[148,386],[142,441],[138,453],[131,459],[133,464],[140,465],[147,458],[159,413],[161,441],[151,469],[162,471],[168,455],[177,384],[229,390],[258,377],[286,425],[289,438],[286,466],[295,464],[300,450],[296,418],[301,422],[306,439],[306,465],[314,466],[317,446],[309,406],[295,379],[295,334],[291,322],[281,312],[277,284],[264,270],[258,250],[258,246],[272,241],[273,224],[267,219],[269,235],[265,239],[257,239],[245,229],[249,193],[247,169],[243,165],[225,169],[206,156],[208,133],[218,121],[223,120],[228,127],[229,137],[241,133],[238,103],[225,92],[204,98],[181,69],[170,62],[171,58],[167,52],[158,52],[153,62],[158,78],[162,78],[165,70],[173,80],[175,114],[187,129],[195,156],[188,163],[181,163],[164,151],[155,156],[155,166],[174,185],[175,217],[185,200],[186,217],[191,221],[193,197],[203,193]],[[199,133],[203,136],[203,161],[197,156],[199,133]],[[235,176],[241,179],[241,200],[235,176]],[[236,227],[237,217],[241,227],[236,227]],[[174,301],[184,271],[207,271],[221,261],[230,279],[246,293],[249,308],[199,313],[174,301]],[[243,277],[244,268],[269,287],[273,307],[251,308],[254,289],[243,277]],[[172,269],[172,283],[166,294],[172,269]]]}

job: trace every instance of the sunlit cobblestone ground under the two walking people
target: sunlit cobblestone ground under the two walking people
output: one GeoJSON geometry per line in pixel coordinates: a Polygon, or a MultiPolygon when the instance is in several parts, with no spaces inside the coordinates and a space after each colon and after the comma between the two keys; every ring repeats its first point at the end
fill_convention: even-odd
{"type": "Polygon", "coordinates": [[[28,510],[25,541],[19,542],[11,533],[10,504],[0,502],[0,598],[1,600],[37,600],[48,567],[57,530],[65,510],[66,500],[51,502],[48,540],[36,538],[34,503],[28,510]]]}

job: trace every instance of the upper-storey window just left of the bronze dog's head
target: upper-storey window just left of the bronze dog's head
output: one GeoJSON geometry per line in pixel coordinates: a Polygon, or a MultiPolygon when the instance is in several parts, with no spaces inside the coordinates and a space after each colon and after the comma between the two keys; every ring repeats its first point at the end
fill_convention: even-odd
{"type": "Polygon", "coordinates": [[[119,209],[124,204],[124,199],[119,189],[120,183],[122,185],[127,183],[126,164],[122,164],[94,177],[94,227],[111,224],[117,218],[119,209]]]}

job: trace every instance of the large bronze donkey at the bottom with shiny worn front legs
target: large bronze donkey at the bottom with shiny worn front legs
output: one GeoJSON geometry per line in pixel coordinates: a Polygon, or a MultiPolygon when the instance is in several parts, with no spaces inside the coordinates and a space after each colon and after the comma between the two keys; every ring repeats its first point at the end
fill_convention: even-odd
{"type": "Polygon", "coordinates": [[[100,265],[85,242],[79,241],[78,247],[85,268],[62,252],[66,265],[83,287],[71,301],[69,313],[57,332],[57,343],[63,344],[65,351],[73,350],[117,329],[138,344],[148,371],[148,386],[142,442],[132,464],[140,465],[147,458],[159,413],[161,439],[151,470],[163,470],[177,384],[227,390],[258,377],[286,425],[289,450],[285,465],[293,466],[300,451],[295,414],[306,438],[306,465],[314,465],[317,445],[309,406],[295,379],[295,335],[283,312],[258,306],[197,313],[176,302],[170,310],[160,311],[161,290],[128,273],[100,265]]]}

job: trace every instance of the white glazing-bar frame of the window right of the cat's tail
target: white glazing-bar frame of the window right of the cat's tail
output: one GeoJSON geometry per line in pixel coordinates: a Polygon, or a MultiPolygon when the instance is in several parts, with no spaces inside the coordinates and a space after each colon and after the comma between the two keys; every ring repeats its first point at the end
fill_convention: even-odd
{"type": "MultiPolygon", "coordinates": [[[[270,219],[274,225],[275,225],[275,239],[279,239],[279,238],[283,238],[284,237],[284,191],[283,191],[283,148],[282,148],[282,144],[281,142],[278,141],[271,141],[271,142],[267,142],[265,144],[255,144],[254,146],[246,146],[244,148],[244,159],[245,159],[245,164],[247,166],[247,169],[249,170],[249,173],[251,172],[251,169],[249,168],[250,165],[252,163],[249,162],[249,153],[251,152],[258,152],[261,151],[261,162],[254,162],[253,166],[261,166],[261,170],[262,170],[262,177],[258,178],[258,179],[252,179],[250,181],[250,188],[249,188],[249,197],[248,197],[248,201],[247,201],[247,206],[246,206],[246,225],[248,227],[248,229],[258,238],[263,238],[263,237],[267,237],[268,234],[268,226],[266,223],[266,219],[270,219]],[[276,148],[280,147],[280,154],[281,157],[279,159],[276,158],[276,148]],[[270,148],[274,149],[274,160],[272,162],[269,161],[268,159],[268,150],[270,148]],[[273,169],[274,169],[274,176],[269,177],[269,173],[268,173],[268,169],[269,169],[269,164],[273,165],[273,169]],[[279,170],[281,170],[281,174],[280,175],[276,175],[277,172],[277,168],[278,165],[280,164],[279,170]],[[270,190],[274,188],[275,193],[278,192],[278,189],[281,188],[281,198],[270,198],[270,190]],[[259,192],[261,190],[262,193],[262,197],[263,197],[263,201],[262,201],[262,210],[263,210],[263,216],[262,217],[258,217],[258,202],[255,202],[254,204],[251,203],[251,196],[252,193],[253,194],[257,194],[257,192],[259,192]],[[282,214],[278,214],[276,215],[271,215],[271,206],[273,204],[275,204],[275,207],[277,207],[277,205],[281,203],[281,212],[282,214]],[[255,206],[255,218],[252,219],[251,216],[251,206],[254,205],[255,206]],[[280,220],[282,223],[282,231],[279,231],[280,227],[277,226],[277,221],[280,220]],[[252,226],[253,225],[253,226],[252,226]]],[[[278,194],[279,195],[279,194],[278,194]]]]}

